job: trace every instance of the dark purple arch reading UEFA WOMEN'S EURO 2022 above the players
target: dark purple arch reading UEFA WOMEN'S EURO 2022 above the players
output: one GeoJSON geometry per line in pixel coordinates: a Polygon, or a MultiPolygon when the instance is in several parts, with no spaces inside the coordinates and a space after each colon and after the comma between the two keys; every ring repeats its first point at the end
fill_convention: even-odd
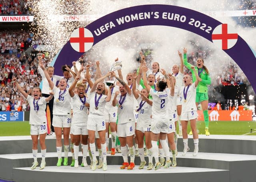
{"type": "MultiPolygon", "coordinates": [[[[256,63],[256,53],[252,48],[236,33],[228,33],[229,27],[227,24],[222,24],[210,16],[188,8],[152,4],[118,10],[87,25],[84,32],[89,30],[93,37],[83,37],[83,39],[86,41],[89,38],[90,43],[93,42],[93,45],[95,45],[119,31],[146,25],[177,27],[196,33],[214,43],[216,39],[219,40],[216,46],[225,51],[237,63],[254,90],[256,89],[256,79],[251,70],[252,65],[256,63]],[[228,46],[228,43],[231,46],[228,46]]],[[[83,32],[82,34],[84,35],[83,32]]],[[[72,44],[74,44],[74,41],[76,40],[72,39],[72,44]]],[[[81,43],[81,40],[79,43],[81,43]]],[[[80,48],[77,48],[78,51],[84,50],[84,47],[80,48]]],[[[84,54],[84,52],[78,51],[75,51],[70,41],[68,41],[56,55],[51,65],[61,67],[64,64],[70,64],[72,61],[78,60],[84,54]]],[[[55,73],[62,74],[58,69],[55,73]]]]}

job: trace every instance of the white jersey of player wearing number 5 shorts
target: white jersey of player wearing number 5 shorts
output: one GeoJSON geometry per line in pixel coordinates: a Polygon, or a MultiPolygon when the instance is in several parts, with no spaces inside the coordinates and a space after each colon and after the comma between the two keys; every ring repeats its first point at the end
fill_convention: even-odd
{"type": "Polygon", "coordinates": [[[182,96],[182,112],[189,112],[189,111],[196,111],[196,87],[195,83],[190,84],[190,87],[188,88],[186,100],[184,98],[184,93],[186,93],[187,86],[182,86],[180,89],[180,95],[182,96]]]}

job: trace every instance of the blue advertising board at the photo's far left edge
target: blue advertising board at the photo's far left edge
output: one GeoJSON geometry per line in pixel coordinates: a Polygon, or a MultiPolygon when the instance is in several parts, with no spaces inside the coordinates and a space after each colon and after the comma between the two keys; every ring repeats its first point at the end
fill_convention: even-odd
{"type": "Polygon", "coordinates": [[[24,112],[1,111],[0,121],[24,121],[24,112]]]}

